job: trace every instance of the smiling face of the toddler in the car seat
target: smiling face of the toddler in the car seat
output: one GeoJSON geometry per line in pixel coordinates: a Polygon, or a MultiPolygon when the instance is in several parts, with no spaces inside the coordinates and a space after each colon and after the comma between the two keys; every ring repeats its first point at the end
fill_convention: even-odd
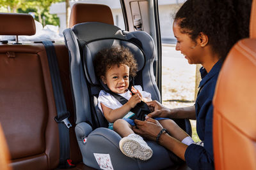
{"type": "Polygon", "coordinates": [[[106,76],[101,76],[101,79],[112,92],[125,93],[129,87],[129,67],[124,64],[119,67],[112,66],[106,72],[106,76]]]}

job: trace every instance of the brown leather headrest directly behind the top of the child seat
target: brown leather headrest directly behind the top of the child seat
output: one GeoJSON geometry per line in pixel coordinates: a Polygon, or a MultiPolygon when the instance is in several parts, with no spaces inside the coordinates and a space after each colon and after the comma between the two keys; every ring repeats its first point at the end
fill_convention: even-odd
{"type": "Polygon", "coordinates": [[[72,6],[69,27],[83,22],[103,22],[114,25],[113,15],[108,6],[76,3],[72,6]]]}

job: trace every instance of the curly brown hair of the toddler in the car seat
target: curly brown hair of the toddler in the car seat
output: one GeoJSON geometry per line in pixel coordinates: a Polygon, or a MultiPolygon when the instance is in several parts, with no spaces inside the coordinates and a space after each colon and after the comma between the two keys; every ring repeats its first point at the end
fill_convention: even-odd
{"type": "Polygon", "coordinates": [[[129,67],[129,76],[136,76],[138,64],[131,51],[124,46],[113,46],[100,50],[93,60],[93,66],[98,78],[105,76],[111,67],[115,65],[119,67],[122,64],[129,67]]]}

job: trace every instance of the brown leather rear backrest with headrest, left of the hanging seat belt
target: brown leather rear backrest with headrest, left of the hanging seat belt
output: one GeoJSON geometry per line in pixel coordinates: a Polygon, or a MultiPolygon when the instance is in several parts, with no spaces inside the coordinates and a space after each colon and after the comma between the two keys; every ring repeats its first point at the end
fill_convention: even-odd
{"type": "MultiPolygon", "coordinates": [[[[0,34],[35,34],[31,15],[0,13],[0,20],[0,34]]],[[[44,45],[0,45],[0,80],[0,122],[13,169],[56,168],[58,125],[44,45]]]]}

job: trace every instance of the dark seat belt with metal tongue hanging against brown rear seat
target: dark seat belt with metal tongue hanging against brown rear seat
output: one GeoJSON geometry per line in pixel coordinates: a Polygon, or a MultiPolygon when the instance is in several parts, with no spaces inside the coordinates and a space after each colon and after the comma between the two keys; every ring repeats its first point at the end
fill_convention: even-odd
{"type": "Polygon", "coordinates": [[[47,59],[49,62],[52,89],[57,111],[57,116],[54,119],[58,123],[60,137],[60,164],[58,167],[70,168],[74,167],[74,165],[71,164],[72,161],[70,160],[69,128],[72,127],[68,121],[70,113],[67,111],[67,106],[65,103],[54,45],[51,41],[42,41],[42,43],[45,46],[45,51],[47,53],[47,59]]]}

